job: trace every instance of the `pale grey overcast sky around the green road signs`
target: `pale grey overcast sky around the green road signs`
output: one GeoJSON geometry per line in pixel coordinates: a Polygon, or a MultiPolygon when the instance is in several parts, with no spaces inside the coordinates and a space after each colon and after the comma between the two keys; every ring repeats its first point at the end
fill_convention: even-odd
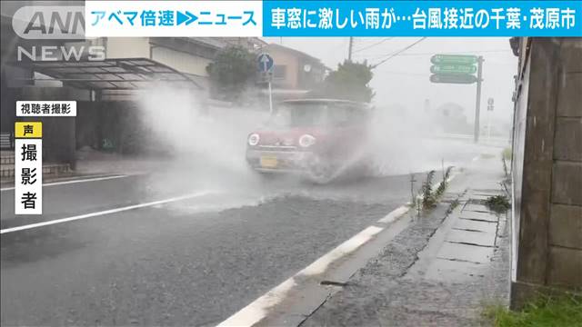
{"type": "MultiPolygon", "coordinates": [[[[354,40],[354,60],[376,64],[387,54],[411,45],[419,38],[368,38],[356,37],[354,40]],[[376,45],[375,45],[376,44],[376,45]]],[[[282,44],[320,58],[330,68],[347,57],[347,37],[266,37],[266,42],[282,44]]],[[[432,54],[478,54],[485,58],[483,65],[483,87],[481,95],[482,118],[485,117],[487,98],[495,99],[493,117],[510,121],[514,90],[513,76],[517,72],[517,57],[509,47],[507,37],[497,38],[460,38],[432,37],[410,48],[403,54],[388,60],[374,70],[371,86],[376,91],[376,104],[400,104],[408,110],[424,106],[425,99],[431,107],[455,102],[466,108],[467,116],[472,117],[475,109],[476,84],[432,84],[430,75],[430,56],[432,54]]]]}

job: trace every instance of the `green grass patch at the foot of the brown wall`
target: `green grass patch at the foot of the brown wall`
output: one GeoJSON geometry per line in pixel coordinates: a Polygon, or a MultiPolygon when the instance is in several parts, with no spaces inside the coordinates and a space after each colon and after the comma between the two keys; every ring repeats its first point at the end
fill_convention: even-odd
{"type": "Polygon", "coordinates": [[[522,311],[490,305],[483,317],[496,327],[581,327],[582,294],[541,297],[527,303],[522,311]]]}

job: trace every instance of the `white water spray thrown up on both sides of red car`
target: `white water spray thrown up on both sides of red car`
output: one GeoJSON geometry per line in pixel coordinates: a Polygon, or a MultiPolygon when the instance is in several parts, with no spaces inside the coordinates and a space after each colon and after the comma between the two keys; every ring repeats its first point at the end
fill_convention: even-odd
{"type": "MultiPolygon", "coordinates": [[[[296,176],[265,179],[252,171],[245,159],[246,138],[268,114],[248,107],[203,105],[200,99],[204,97],[164,87],[141,97],[138,107],[143,123],[172,154],[166,178],[157,178],[150,187],[229,194],[220,200],[209,198],[206,209],[256,205],[293,194],[334,197],[343,193],[338,189],[342,184],[314,185],[296,176]]],[[[367,163],[372,168],[368,175],[375,177],[422,172],[440,167],[442,159],[451,163],[459,152],[469,150],[467,144],[459,147],[431,140],[427,136],[431,124],[423,117],[399,107],[376,107],[361,151],[348,158],[333,177],[347,173],[356,163],[367,163]]]]}

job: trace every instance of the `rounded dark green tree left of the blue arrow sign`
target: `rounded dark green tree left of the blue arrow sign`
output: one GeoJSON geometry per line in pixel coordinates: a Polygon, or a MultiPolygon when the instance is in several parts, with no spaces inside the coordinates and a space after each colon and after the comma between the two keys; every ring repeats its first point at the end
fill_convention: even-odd
{"type": "Polygon", "coordinates": [[[226,101],[240,99],[256,73],[255,54],[241,46],[229,46],[206,66],[213,97],[226,101]]]}

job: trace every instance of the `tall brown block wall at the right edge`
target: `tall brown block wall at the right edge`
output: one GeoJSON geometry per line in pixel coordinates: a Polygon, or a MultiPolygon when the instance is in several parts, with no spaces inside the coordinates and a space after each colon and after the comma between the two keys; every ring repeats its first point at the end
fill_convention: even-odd
{"type": "Polygon", "coordinates": [[[582,39],[522,43],[513,167],[514,307],[540,290],[582,289],[582,39]]]}

